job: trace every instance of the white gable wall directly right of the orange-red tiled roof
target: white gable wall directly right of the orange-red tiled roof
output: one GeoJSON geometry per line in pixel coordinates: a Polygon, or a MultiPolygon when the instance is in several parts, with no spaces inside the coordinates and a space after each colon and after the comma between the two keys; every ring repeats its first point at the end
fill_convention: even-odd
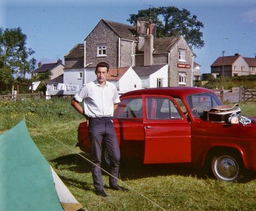
{"type": "Polygon", "coordinates": [[[142,83],[140,77],[130,67],[118,81],[117,89],[121,92],[140,90],[142,83]]]}

